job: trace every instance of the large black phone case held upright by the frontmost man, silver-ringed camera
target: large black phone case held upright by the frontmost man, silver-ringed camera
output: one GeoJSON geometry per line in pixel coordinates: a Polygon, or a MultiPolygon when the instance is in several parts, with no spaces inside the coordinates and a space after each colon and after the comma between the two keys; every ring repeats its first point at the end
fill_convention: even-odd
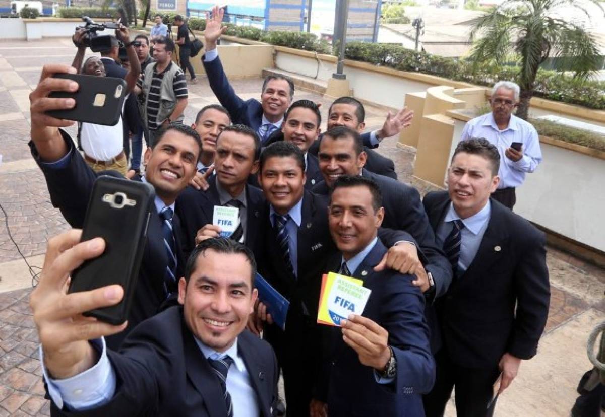
{"type": "Polygon", "coordinates": [[[145,250],[154,196],[153,187],[146,183],[111,176],[100,176],[95,181],[84,219],[82,241],[100,236],[105,239],[105,252],[74,271],[69,292],[119,284],[124,289],[124,298],[117,305],[87,311],[85,315],[113,325],[126,320],[145,250]],[[116,192],[124,193],[134,205],[112,207],[106,196],[116,192]]]}

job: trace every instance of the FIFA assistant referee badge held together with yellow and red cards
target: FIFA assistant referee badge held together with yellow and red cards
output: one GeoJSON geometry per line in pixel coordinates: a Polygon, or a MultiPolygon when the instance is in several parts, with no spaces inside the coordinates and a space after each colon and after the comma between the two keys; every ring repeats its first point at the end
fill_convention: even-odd
{"type": "Polygon", "coordinates": [[[329,273],[322,277],[317,322],[320,325],[340,326],[349,314],[362,314],[371,290],[363,280],[329,273]]]}

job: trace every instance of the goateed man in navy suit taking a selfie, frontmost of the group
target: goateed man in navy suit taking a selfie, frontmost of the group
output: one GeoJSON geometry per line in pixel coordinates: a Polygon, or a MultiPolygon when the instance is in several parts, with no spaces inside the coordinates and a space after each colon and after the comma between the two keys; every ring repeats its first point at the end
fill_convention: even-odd
{"type": "Polygon", "coordinates": [[[204,241],[178,282],[180,306],[140,323],[118,353],[102,337],[125,323],[91,322],[82,312],[116,304],[122,287],[65,291],[71,271],[105,249],[100,238],[78,244],[80,236],[71,230],[51,241],[30,299],[53,415],[276,415],[275,354],[244,329],[257,298],[249,249],[204,241]]]}

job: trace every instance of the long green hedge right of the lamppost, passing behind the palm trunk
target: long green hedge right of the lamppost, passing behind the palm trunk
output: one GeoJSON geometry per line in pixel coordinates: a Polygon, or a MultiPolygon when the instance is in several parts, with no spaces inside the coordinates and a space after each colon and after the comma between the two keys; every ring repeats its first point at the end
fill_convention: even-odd
{"type": "MultiPolygon", "coordinates": [[[[492,86],[501,80],[515,81],[519,76],[519,69],[515,66],[486,66],[473,73],[473,65],[465,60],[417,52],[392,44],[349,42],[345,48],[345,57],[401,71],[485,86],[492,86]]],[[[575,79],[555,71],[538,71],[534,95],[590,109],[605,109],[605,82],[575,79]]]]}

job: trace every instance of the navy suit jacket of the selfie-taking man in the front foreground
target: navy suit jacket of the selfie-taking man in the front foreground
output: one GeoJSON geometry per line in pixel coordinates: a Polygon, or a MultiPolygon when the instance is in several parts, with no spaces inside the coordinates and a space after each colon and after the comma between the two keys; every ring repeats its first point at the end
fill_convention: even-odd
{"type": "MultiPolygon", "coordinates": [[[[280,377],[266,341],[244,330],[237,338],[261,416],[274,415],[280,377]]],[[[108,351],[116,371],[113,398],[100,407],[69,412],[51,406],[52,415],[201,416],[227,415],[223,389],[175,306],[137,326],[120,352],[108,351]]]]}

